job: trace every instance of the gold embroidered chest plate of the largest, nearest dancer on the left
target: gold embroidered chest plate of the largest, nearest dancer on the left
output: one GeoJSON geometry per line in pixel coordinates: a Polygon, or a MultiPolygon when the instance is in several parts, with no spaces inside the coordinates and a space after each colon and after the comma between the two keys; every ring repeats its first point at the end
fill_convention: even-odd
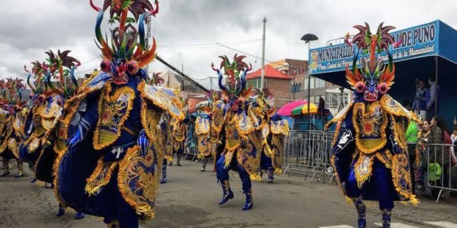
{"type": "Polygon", "coordinates": [[[116,142],[120,137],[125,120],[132,110],[135,92],[132,88],[118,88],[114,95],[111,84],[107,84],[98,101],[98,122],[93,133],[93,148],[100,150],[116,142]]]}

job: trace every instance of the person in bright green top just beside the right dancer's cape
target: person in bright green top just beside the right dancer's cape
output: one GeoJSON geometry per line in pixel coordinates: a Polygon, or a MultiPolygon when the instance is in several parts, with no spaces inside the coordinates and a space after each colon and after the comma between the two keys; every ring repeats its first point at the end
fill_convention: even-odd
{"type": "Polygon", "coordinates": [[[413,186],[413,194],[415,194],[415,170],[418,169],[420,156],[416,153],[416,146],[418,144],[418,125],[411,121],[409,122],[408,129],[406,130],[406,143],[408,144],[409,164],[411,171],[411,184],[413,186]]]}

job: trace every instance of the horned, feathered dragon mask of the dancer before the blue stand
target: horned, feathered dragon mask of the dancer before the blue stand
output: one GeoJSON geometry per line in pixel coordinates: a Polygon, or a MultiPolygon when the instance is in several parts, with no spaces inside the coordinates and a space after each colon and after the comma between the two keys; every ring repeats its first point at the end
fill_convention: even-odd
{"type": "Polygon", "coordinates": [[[349,41],[349,35],[346,35],[346,44],[354,49],[352,59],[352,70],[346,66],[346,79],[350,86],[360,94],[363,94],[367,101],[379,99],[378,93],[384,94],[393,85],[395,78],[395,66],[393,64],[392,50],[402,41],[395,42],[388,31],[393,30],[393,26],[383,26],[380,23],[376,34],[370,32],[370,26],[354,26],[359,30],[352,41],[349,41]],[[361,51],[368,50],[369,58],[361,57],[361,68],[357,69],[357,60],[361,51]],[[386,50],[388,64],[384,64],[382,58],[378,55],[386,50]]]}

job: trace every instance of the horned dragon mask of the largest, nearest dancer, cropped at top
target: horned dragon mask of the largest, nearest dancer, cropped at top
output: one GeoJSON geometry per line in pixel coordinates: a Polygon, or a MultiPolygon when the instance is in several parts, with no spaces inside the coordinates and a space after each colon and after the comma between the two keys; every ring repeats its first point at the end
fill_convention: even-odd
{"type": "MultiPolygon", "coordinates": [[[[159,12],[159,3],[155,1],[155,8],[149,0],[105,0],[103,8],[94,5],[91,7],[100,12],[96,22],[96,38],[98,48],[105,58],[100,68],[111,74],[116,84],[126,84],[129,75],[136,75],[138,71],[149,64],[156,56],[156,43],[152,38],[152,46],[145,37],[145,21],[150,15],[159,12]],[[104,38],[101,31],[103,13],[109,9],[109,23],[118,23],[111,30],[111,41],[104,38]],[[128,17],[130,14],[133,17],[128,17]],[[138,23],[138,30],[134,27],[138,23]]],[[[146,77],[145,73],[141,75],[146,77]]]]}

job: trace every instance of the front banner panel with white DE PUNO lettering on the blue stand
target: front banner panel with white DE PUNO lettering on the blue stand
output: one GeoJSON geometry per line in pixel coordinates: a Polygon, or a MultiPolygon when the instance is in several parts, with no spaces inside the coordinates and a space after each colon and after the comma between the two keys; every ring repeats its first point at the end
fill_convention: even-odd
{"type": "MultiPolygon", "coordinates": [[[[428,55],[438,55],[438,24],[433,21],[421,26],[406,28],[391,32],[395,41],[403,37],[402,44],[393,50],[394,61],[413,59],[428,55]]],[[[375,27],[374,29],[376,29],[375,27]]],[[[375,32],[372,28],[372,33],[375,32]]],[[[367,50],[362,50],[364,56],[368,55],[367,50]]],[[[379,53],[384,60],[387,59],[385,51],[379,53]]],[[[348,44],[337,44],[310,50],[310,73],[320,74],[344,70],[346,65],[352,66],[354,50],[348,44]]],[[[357,61],[357,66],[360,62],[357,61]]]]}

